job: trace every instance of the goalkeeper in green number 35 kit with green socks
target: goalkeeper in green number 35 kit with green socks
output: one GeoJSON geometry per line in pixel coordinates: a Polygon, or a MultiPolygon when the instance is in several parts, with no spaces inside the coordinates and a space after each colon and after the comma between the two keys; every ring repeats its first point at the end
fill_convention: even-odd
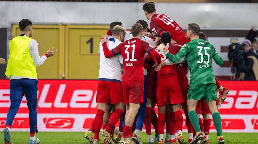
{"type": "Polygon", "coordinates": [[[186,56],[191,72],[187,97],[188,114],[196,132],[196,135],[190,143],[197,143],[199,140],[203,139],[195,108],[198,101],[205,98],[217,130],[218,143],[222,144],[225,141],[222,136],[221,117],[216,106],[216,100],[218,98],[216,96],[216,82],[212,68],[212,59],[220,66],[223,64],[223,60],[211,43],[199,39],[199,33],[199,25],[190,23],[187,27],[187,37],[191,39],[191,41],[185,43],[176,55],[169,53],[166,47],[159,48],[158,50],[163,52],[172,62],[176,62],[183,56],[186,56]]]}

